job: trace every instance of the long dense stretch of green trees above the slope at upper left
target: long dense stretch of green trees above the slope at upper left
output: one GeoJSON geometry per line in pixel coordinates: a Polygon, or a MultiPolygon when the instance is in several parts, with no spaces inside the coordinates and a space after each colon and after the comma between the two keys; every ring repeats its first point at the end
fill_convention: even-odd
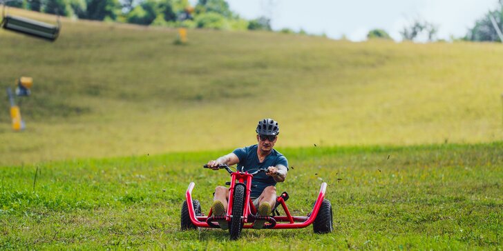
{"type": "Polygon", "coordinates": [[[8,6],[66,17],[117,21],[144,26],[272,30],[270,19],[246,20],[232,12],[225,0],[19,0],[8,6]]]}

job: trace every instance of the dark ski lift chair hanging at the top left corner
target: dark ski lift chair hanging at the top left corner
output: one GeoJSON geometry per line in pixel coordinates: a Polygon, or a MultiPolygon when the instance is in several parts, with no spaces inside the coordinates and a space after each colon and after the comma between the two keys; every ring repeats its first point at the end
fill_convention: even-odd
{"type": "Polygon", "coordinates": [[[0,26],[6,30],[12,30],[32,37],[46,39],[48,41],[55,41],[59,36],[61,30],[61,22],[59,21],[59,14],[57,15],[57,26],[49,23],[28,19],[26,17],[14,17],[6,15],[6,3],[8,1],[1,1],[3,3],[2,21],[0,26]]]}

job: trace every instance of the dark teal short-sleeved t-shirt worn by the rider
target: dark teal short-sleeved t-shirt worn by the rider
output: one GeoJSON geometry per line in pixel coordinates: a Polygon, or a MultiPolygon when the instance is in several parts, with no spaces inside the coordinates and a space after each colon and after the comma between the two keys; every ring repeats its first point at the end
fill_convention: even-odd
{"type": "MultiPolygon", "coordinates": [[[[257,149],[258,145],[249,145],[244,148],[237,148],[233,151],[239,159],[238,170],[241,170],[242,167],[244,167],[243,170],[247,171],[251,169],[268,168],[269,166],[276,165],[285,165],[285,167],[288,168],[287,158],[283,156],[281,152],[274,149],[272,149],[272,152],[265,157],[262,163],[260,163],[258,161],[257,149]]],[[[252,187],[251,196],[259,197],[263,190],[269,185],[276,185],[276,181],[274,181],[273,177],[265,175],[265,172],[260,172],[254,175],[252,185],[257,185],[257,187],[252,187]]]]}

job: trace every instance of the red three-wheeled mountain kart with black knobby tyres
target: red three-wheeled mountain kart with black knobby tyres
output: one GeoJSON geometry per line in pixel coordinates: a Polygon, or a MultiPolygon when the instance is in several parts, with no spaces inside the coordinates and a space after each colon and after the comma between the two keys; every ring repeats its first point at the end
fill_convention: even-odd
{"type": "MultiPolygon", "coordinates": [[[[205,165],[205,168],[208,168],[205,165]]],[[[231,182],[229,188],[229,204],[227,206],[227,214],[225,216],[212,216],[211,209],[208,216],[202,214],[201,205],[198,200],[192,199],[192,190],[194,183],[189,184],[185,193],[186,201],[182,204],[181,212],[181,227],[182,230],[196,228],[220,228],[218,220],[225,220],[229,223],[229,233],[232,240],[238,239],[243,228],[252,228],[256,220],[265,220],[265,229],[283,229],[283,228],[305,228],[313,224],[315,233],[325,234],[332,232],[332,205],[325,198],[325,190],[327,183],[321,183],[318,199],[314,203],[312,212],[305,217],[292,216],[287,208],[285,201],[288,199],[287,192],[281,193],[276,199],[276,205],[270,216],[258,216],[257,209],[250,199],[250,191],[252,188],[252,179],[259,172],[267,172],[266,169],[256,169],[255,172],[233,172],[227,165],[219,165],[218,168],[225,169],[231,174],[231,182]],[[286,216],[280,216],[278,213],[278,205],[283,207],[286,216]]],[[[255,169],[254,169],[255,170],[255,169]]],[[[249,170],[251,171],[251,170],[249,170]]]]}

